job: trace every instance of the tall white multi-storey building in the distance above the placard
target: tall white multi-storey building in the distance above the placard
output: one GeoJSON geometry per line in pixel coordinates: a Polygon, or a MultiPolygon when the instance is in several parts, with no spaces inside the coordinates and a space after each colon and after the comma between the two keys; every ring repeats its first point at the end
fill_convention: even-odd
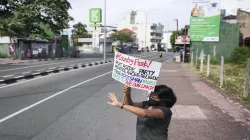
{"type": "Polygon", "coordinates": [[[137,16],[136,11],[126,13],[125,16],[118,21],[117,30],[127,28],[136,32],[139,49],[143,48],[146,50],[146,47],[148,47],[149,49],[151,48],[151,50],[156,50],[157,44],[163,40],[164,26],[161,23],[141,23],[138,21],[137,16]]]}

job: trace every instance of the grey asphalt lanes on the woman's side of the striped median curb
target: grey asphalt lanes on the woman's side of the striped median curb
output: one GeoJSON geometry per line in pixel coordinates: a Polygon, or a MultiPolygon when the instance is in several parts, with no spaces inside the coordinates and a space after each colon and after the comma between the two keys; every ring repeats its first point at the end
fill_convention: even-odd
{"type": "MultiPolygon", "coordinates": [[[[135,116],[106,103],[108,92],[122,96],[112,67],[108,63],[0,87],[0,140],[135,139],[135,116]]],[[[134,99],[146,99],[144,91],[133,93],[134,99]]]]}

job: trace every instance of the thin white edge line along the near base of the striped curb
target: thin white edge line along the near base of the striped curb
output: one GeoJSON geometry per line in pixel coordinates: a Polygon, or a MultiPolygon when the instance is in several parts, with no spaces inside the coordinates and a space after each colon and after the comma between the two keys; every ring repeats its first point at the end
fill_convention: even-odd
{"type": "MultiPolygon", "coordinates": [[[[111,64],[111,63],[105,63],[104,65],[109,65],[109,64],[111,64]]],[[[33,79],[30,79],[30,80],[25,80],[25,81],[22,81],[22,82],[18,82],[18,83],[6,85],[6,86],[1,86],[0,89],[6,88],[6,87],[11,87],[11,86],[14,86],[14,85],[19,85],[19,84],[22,84],[22,83],[27,83],[27,82],[34,81],[34,80],[44,79],[44,78],[51,77],[51,76],[65,74],[65,73],[68,73],[68,72],[75,72],[75,71],[85,70],[85,69],[89,69],[89,68],[95,68],[95,67],[104,66],[104,65],[95,65],[95,66],[84,67],[84,68],[75,69],[75,70],[71,70],[71,71],[63,71],[63,72],[60,72],[60,73],[55,73],[55,74],[51,74],[51,75],[47,75],[47,76],[37,77],[37,78],[33,78],[33,79]]]]}

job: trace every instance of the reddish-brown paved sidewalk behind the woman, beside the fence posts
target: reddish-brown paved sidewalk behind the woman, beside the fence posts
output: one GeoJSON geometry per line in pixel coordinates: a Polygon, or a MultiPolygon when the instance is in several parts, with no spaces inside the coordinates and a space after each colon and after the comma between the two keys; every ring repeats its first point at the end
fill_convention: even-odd
{"type": "Polygon", "coordinates": [[[188,64],[166,62],[158,84],[177,96],[170,140],[250,140],[250,111],[202,82],[188,64]]]}

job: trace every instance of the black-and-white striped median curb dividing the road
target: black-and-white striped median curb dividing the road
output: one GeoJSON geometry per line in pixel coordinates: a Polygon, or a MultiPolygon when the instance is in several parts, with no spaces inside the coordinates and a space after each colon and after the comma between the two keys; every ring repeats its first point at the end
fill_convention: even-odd
{"type": "Polygon", "coordinates": [[[94,61],[90,63],[80,63],[80,64],[74,64],[74,65],[69,65],[69,66],[60,66],[60,67],[52,67],[49,69],[41,69],[37,71],[30,71],[30,72],[24,72],[21,74],[16,74],[16,75],[10,75],[8,77],[0,77],[0,83],[9,83],[9,82],[16,82],[17,80],[21,79],[30,79],[34,78],[36,76],[43,76],[43,75],[48,75],[50,73],[58,73],[61,71],[69,71],[71,69],[79,69],[79,68],[85,68],[85,67],[91,67],[91,66],[96,66],[96,65],[101,65],[101,64],[107,64],[107,63],[112,63],[114,60],[106,60],[104,61],[94,61]]]}

